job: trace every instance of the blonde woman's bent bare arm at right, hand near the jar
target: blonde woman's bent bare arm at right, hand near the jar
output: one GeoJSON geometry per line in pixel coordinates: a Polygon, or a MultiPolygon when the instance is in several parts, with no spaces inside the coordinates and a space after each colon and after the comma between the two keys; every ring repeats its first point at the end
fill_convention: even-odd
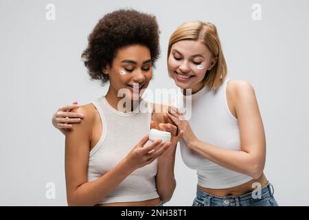
{"type": "Polygon", "coordinates": [[[241,151],[228,150],[198,140],[190,124],[178,119],[179,113],[168,113],[168,116],[179,129],[185,131],[183,139],[188,148],[220,166],[258,179],[264,170],[266,140],[255,92],[244,81],[231,81],[229,84],[231,87],[228,89],[228,99],[231,100],[231,107],[235,109],[238,118],[241,151]]]}

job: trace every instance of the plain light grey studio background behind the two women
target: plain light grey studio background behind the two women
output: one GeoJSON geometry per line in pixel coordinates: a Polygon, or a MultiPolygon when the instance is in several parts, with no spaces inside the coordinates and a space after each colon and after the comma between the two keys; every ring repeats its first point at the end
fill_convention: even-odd
{"type": "MultiPolygon", "coordinates": [[[[0,1],[0,205],[66,206],[64,140],[52,115],[87,104],[107,87],[89,80],[80,59],[106,13],[123,7],[155,14],[161,58],[150,88],[175,87],[167,76],[170,34],[185,21],[215,23],[229,78],[255,88],[267,138],[266,177],[279,205],[309,205],[309,1],[0,1]],[[47,3],[56,20],[47,21],[47,3]],[[262,20],[253,21],[253,3],[262,20]],[[45,197],[47,182],[56,198],[45,197]]],[[[190,206],[197,178],[176,155],[177,187],[166,206],[190,206]]]]}

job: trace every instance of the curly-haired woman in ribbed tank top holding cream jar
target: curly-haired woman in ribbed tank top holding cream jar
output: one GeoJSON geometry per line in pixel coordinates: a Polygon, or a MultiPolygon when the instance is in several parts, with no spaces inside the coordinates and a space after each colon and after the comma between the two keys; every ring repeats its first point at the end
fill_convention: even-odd
{"type": "MultiPolygon", "coordinates": [[[[71,114],[84,115],[80,123],[69,125],[65,122],[71,119],[57,119],[63,128],[71,128],[62,130],[70,206],[161,206],[172,197],[175,146],[183,132],[176,136],[176,127],[164,123],[166,115],[135,111],[158,56],[159,28],[149,14],[111,12],[89,35],[84,65],[91,78],[103,85],[109,82],[109,88],[105,96],[73,109],[71,114]],[[124,98],[118,97],[122,89],[128,91],[125,111],[118,107],[124,98]],[[172,140],[147,145],[150,124],[170,131],[172,140]]],[[[65,111],[57,114],[69,116],[65,111]]]]}

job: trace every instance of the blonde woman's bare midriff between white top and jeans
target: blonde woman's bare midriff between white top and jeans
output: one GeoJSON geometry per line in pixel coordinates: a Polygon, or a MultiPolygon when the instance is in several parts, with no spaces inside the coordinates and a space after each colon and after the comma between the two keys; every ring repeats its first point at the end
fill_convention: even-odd
{"type": "Polygon", "coordinates": [[[251,179],[250,181],[247,181],[247,183],[244,183],[239,186],[234,186],[231,188],[220,188],[220,189],[213,189],[213,188],[205,188],[198,185],[198,188],[202,190],[203,192],[207,192],[210,195],[214,195],[217,197],[231,197],[231,196],[238,196],[238,195],[244,195],[248,192],[252,192],[255,190],[255,185],[253,183],[260,183],[260,186],[266,186],[268,184],[268,180],[266,179],[264,173],[262,176],[258,179],[251,179]]]}

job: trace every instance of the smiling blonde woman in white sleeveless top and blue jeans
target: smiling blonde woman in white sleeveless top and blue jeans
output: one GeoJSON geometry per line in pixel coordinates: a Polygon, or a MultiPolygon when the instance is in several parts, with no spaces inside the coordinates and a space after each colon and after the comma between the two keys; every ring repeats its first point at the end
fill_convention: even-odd
{"type": "Polygon", "coordinates": [[[168,72],[184,91],[176,106],[192,102],[190,114],[168,117],[185,132],[183,162],[197,171],[193,206],[277,206],[263,173],[266,140],[255,92],[245,81],[227,79],[216,26],[193,21],[177,28],[168,72]]]}

